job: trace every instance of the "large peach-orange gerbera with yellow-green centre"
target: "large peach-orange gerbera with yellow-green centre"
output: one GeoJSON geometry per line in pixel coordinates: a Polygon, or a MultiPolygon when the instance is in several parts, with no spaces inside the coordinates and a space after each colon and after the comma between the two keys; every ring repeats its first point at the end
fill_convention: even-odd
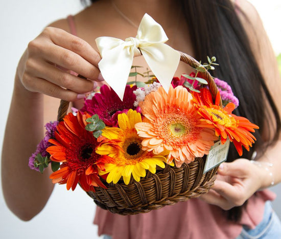
{"type": "Polygon", "coordinates": [[[147,118],[135,124],[138,135],[145,138],[143,149],[156,155],[168,151],[168,163],[175,159],[177,167],[208,154],[217,140],[214,128],[197,113],[191,93],[182,86],[170,86],[168,94],[161,87],[139,106],[147,118]]]}

